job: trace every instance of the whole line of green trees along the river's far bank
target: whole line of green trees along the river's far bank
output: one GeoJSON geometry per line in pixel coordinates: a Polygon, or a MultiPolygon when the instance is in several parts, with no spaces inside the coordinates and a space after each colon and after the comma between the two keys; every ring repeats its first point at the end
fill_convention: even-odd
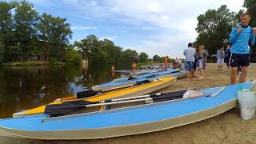
{"type": "Polygon", "coordinates": [[[72,30],[66,18],[38,14],[30,2],[0,2],[0,63],[30,61],[90,63],[147,62],[145,52],[123,50],[94,34],[70,44],[72,30]]]}

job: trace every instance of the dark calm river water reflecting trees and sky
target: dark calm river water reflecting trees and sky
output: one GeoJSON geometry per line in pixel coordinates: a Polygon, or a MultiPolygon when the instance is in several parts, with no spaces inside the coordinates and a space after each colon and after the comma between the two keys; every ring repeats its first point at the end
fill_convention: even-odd
{"type": "Polygon", "coordinates": [[[110,82],[110,66],[0,67],[0,118],[110,82]]]}

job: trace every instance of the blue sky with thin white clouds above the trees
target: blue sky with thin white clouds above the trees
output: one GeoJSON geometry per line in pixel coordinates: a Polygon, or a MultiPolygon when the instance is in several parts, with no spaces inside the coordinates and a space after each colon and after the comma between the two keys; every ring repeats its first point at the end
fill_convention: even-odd
{"type": "MultiPolygon", "coordinates": [[[[110,39],[124,50],[183,58],[194,42],[197,17],[225,4],[243,9],[243,0],[28,0],[39,14],[67,18],[73,31],[70,43],[89,34],[110,39]]],[[[206,48],[207,49],[207,48],[206,48]]]]}

